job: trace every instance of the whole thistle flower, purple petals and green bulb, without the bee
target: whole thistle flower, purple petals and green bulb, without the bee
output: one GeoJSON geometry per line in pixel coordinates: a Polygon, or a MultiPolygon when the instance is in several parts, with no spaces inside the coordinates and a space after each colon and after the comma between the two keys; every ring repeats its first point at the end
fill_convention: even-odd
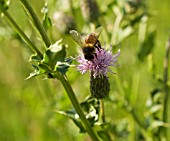
{"type": "Polygon", "coordinates": [[[83,56],[78,57],[78,70],[84,74],[90,72],[90,91],[97,98],[102,99],[108,96],[110,83],[108,72],[112,72],[111,67],[116,66],[120,50],[117,54],[112,54],[111,50],[96,50],[95,58],[92,61],[86,60],[83,56]]]}

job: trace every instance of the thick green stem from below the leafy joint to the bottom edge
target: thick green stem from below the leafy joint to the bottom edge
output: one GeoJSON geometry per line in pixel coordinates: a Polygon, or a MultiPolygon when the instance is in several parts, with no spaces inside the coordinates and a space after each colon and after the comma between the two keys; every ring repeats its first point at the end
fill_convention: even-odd
{"type": "Polygon", "coordinates": [[[74,91],[72,89],[72,87],[70,86],[70,83],[68,82],[66,76],[63,76],[63,75],[59,75],[59,79],[61,81],[61,83],[63,84],[67,94],[68,94],[68,97],[70,98],[74,108],[76,109],[80,119],[82,120],[88,134],[90,135],[90,137],[92,138],[93,141],[99,141],[96,133],[94,132],[93,128],[90,126],[88,120],[86,119],[84,113],[82,112],[81,110],[81,107],[80,107],[80,104],[74,94],[74,91]]]}

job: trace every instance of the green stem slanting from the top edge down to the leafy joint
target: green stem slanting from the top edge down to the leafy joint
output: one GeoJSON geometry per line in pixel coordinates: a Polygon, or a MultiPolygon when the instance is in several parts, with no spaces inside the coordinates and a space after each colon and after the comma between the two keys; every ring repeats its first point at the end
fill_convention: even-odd
{"type": "Polygon", "coordinates": [[[20,1],[23,4],[23,6],[25,7],[25,10],[28,12],[29,16],[32,18],[35,28],[40,33],[40,36],[42,37],[46,47],[48,48],[51,45],[51,41],[49,40],[47,33],[46,33],[40,19],[36,15],[30,1],[29,0],[20,0],[20,1]]]}

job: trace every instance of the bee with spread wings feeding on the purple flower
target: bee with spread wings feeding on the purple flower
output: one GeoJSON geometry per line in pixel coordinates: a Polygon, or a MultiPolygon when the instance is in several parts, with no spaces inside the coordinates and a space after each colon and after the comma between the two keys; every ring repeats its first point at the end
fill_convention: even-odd
{"type": "Polygon", "coordinates": [[[102,31],[102,27],[99,27],[95,30],[95,33],[90,33],[86,36],[84,43],[82,43],[81,34],[75,30],[71,30],[70,34],[75,42],[82,48],[84,58],[88,61],[92,61],[96,56],[96,48],[101,49],[100,41],[98,40],[102,31]]]}

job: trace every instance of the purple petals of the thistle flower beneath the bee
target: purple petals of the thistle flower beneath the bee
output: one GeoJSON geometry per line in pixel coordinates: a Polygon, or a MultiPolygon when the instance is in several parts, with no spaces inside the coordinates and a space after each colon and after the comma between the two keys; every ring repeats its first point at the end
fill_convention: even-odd
{"type": "Polygon", "coordinates": [[[88,61],[84,56],[79,56],[77,61],[80,63],[78,65],[78,70],[84,74],[90,71],[93,77],[107,76],[108,72],[112,72],[111,67],[117,65],[118,56],[120,55],[120,50],[118,53],[112,54],[111,50],[96,49],[96,55],[92,61],[88,61]]]}

